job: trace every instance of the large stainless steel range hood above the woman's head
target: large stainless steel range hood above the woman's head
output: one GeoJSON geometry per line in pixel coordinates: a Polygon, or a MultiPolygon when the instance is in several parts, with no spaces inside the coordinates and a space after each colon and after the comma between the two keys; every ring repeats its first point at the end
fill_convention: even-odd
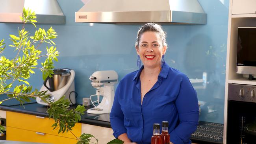
{"type": "Polygon", "coordinates": [[[197,0],[83,0],[76,22],[206,24],[197,0]]]}

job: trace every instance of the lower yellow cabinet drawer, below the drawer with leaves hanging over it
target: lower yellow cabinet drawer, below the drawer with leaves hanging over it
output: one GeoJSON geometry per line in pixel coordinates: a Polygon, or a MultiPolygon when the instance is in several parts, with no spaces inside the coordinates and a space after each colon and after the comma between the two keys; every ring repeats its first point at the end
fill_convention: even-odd
{"type": "Polygon", "coordinates": [[[28,131],[14,127],[6,127],[6,140],[24,141],[24,142],[41,142],[48,144],[76,144],[77,140],[72,138],[60,137],[35,131],[28,131]]]}

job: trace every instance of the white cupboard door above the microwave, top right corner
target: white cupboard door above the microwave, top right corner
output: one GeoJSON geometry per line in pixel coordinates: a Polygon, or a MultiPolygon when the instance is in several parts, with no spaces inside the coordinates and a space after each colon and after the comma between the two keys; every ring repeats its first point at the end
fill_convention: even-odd
{"type": "Polygon", "coordinates": [[[232,14],[256,13],[256,0],[233,0],[232,14]]]}

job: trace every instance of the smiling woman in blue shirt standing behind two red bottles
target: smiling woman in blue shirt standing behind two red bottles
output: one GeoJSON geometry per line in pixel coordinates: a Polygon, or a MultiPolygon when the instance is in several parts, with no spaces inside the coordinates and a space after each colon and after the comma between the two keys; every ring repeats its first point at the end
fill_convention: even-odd
{"type": "Polygon", "coordinates": [[[124,144],[150,144],[153,124],[168,121],[170,144],[190,144],[198,125],[197,94],[187,76],[162,59],[167,44],[161,26],[143,25],[135,48],[143,66],[116,89],[110,113],[113,135],[124,144]]]}

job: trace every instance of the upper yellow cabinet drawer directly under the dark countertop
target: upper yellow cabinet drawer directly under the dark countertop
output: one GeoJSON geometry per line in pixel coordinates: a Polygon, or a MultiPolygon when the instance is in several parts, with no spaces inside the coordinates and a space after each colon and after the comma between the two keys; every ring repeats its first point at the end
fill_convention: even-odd
{"type": "Polygon", "coordinates": [[[52,125],[54,124],[53,119],[49,119],[47,117],[40,117],[31,114],[23,114],[23,113],[15,113],[11,111],[6,111],[6,126],[7,127],[16,127],[19,129],[26,129],[29,131],[37,131],[40,133],[47,133],[51,135],[58,135],[61,137],[75,138],[80,137],[82,131],[82,124],[76,123],[74,127],[72,127],[72,133],[59,133],[59,129],[53,129],[52,125]]]}

